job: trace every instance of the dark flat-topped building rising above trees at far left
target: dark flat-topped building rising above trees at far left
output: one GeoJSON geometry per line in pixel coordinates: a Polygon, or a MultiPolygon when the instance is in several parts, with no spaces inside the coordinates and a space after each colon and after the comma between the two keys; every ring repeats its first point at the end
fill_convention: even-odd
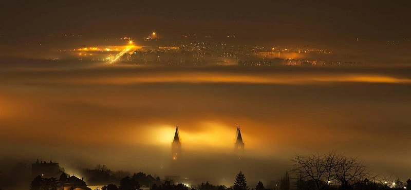
{"type": "Polygon", "coordinates": [[[41,176],[43,178],[59,177],[64,172],[64,168],[59,166],[59,163],[50,161],[39,162],[39,159],[31,165],[31,176],[41,176]]]}

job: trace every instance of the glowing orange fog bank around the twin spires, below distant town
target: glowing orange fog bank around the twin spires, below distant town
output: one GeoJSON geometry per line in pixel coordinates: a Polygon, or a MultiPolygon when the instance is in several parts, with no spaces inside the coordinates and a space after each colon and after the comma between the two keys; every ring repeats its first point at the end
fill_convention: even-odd
{"type": "Polygon", "coordinates": [[[254,165],[286,169],[294,151],[338,149],[360,155],[376,173],[406,173],[408,72],[294,69],[4,68],[0,150],[118,168],[138,159],[139,168],[157,173],[169,158],[176,124],[185,155],[207,153],[212,161],[233,154],[239,124],[254,165]]]}

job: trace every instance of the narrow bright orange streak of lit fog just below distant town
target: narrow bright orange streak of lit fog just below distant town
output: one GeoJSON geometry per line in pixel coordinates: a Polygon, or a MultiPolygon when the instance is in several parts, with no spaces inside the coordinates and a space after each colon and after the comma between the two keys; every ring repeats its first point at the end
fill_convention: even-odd
{"type": "MultiPolygon", "coordinates": [[[[114,62],[113,62],[114,63],[114,62]]],[[[364,74],[333,74],[333,75],[309,75],[301,74],[290,78],[288,74],[253,75],[239,73],[216,73],[216,72],[172,72],[162,73],[162,76],[152,74],[141,74],[133,76],[117,76],[111,78],[95,78],[84,81],[82,79],[73,81],[87,84],[136,84],[136,83],[246,83],[246,84],[298,84],[308,85],[329,82],[358,82],[358,83],[398,83],[411,84],[411,79],[400,79],[383,75],[364,74]]]]}

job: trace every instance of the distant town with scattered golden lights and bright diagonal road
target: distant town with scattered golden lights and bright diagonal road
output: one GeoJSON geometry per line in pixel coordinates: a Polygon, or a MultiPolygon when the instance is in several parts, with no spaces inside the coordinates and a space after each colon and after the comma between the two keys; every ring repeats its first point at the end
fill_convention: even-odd
{"type": "MultiPolygon", "coordinates": [[[[63,34],[62,34],[63,35],[63,34]]],[[[67,37],[67,34],[64,34],[67,37]]],[[[83,37],[69,35],[68,37],[83,37]]],[[[352,66],[360,61],[336,60],[327,49],[297,47],[278,48],[239,45],[235,35],[226,39],[211,36],[182,35],[180,39],[163,39],[152,32],[142,39],[125,36],[105,39],[119,45],[85,46],[61,49],[54,61],[62,59],[98,61],[134,65],[238,65],[238,66],[352,66]],[[228,39],[228,41],[227,41],[228,39]],[[233,40],[231,40],[233,39],[233,40]]]]}

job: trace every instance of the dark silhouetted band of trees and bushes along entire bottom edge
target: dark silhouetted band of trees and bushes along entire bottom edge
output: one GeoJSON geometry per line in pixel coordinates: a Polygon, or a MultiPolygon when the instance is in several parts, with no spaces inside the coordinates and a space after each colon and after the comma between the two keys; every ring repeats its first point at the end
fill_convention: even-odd
{"type": "MultiPolygon", "coordinates": [[[[89,172],[87,183],[95,182],[107,184],[102,190],[137,190],[150,188],[150,190],[404,190],[411,189],[411,179],[402,181],[398,177],[378,176],[368,172],[366,166],[358,158],[346,157],[331,151],[327,154],[296,154],[292,158],[292,168],[284,173],[275,186],[265,187],[263,182],[247,184],[244,173],[239,172],[234,184],[213,185],[208,181],[197,185],[187,185],[161,179],[159,176],[146,175],[142,172],[130,175],[122,170],[113,172],[105,165],[97,165],[95,169],[86,169],[89,172]],[[248,186],[250,185],[250,186],[248,186]]],[[[16,182],[21,181],[18,174],[27,178],[29,169],[27,165],[18,163],[13,167],[12,175],[7,176],[0,171],[0,190],[16,189],[16,182]],[[12,178],[11,178],[12,177],[12,178]],[[10,180],[10,179],[16,180],[10,180]]],[[[73,178],[72,176],[71,178],[73,178]]],[[[57,190],[63,186],[63,182],[69,180],[63,172],[58,177],[36,176],[31,178],[31,183],[25,183],[24,189],[30,190],[57,190]]],[[[83,183],[83,179],[74,179],[83,183]]],[[[84,182],[85,185],[85,182],[84,182]]],[[[90,185],[90,184],[88,184],[90,185]]],[[[22,186],[18,186],[19,188],[22,186]]],[[[94,189],[92,189],[94,190],[94,189]]]]}

